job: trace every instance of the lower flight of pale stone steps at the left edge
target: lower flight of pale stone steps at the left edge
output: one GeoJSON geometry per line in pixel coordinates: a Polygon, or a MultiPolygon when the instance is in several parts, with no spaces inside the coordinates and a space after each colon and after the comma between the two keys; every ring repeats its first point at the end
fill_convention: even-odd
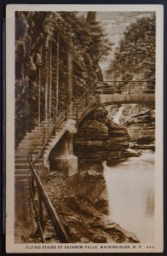
{"type": "MultiPolygon", "coordinates": [[[[23,137],[20,144],[14,152],[14,181],[16,186],[27,186],[29,178],[29,164],[27,160],[27,154],[32,152],[32,159],[34,159],[41,148],[43,147],[43,133],[46,131],[46,126],[49,124],[49,120],[43,121],[41,124],[37,125],[31,132],[26,132],[26,136],[23,137]]],[[[48,132],[51,131],[48,130],[48,132]]],[[[66,122],[61,123],[56,131],[51,134],[47,143],[43,148],[43,154],[37,159],[35,165],[42,165],[47,155],[49,155],[50,150],[55,146],[66,131],[66,122]]],[[[45,163],[46,165],[46,163],[45,163]]]]}

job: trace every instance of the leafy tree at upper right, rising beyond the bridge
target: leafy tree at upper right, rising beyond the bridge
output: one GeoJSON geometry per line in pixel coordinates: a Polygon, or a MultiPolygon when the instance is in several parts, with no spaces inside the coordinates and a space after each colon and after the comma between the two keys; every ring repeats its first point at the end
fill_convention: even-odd
{"type": "Polygon", "coordinates": [[[116,79],[155,80],[155,15],[136,20],[124,32],[107,73],[116,79]]]}

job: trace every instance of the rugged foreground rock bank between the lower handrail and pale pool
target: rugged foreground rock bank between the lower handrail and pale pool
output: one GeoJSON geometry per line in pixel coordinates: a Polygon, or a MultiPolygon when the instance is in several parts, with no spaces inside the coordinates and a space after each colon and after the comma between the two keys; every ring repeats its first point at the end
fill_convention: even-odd
{"type": "Polygon", "coordinates": [[[72,177],[51,177],[44,189],[70,242],[139,242],[107,216],[107,190],[100,164],[80,165],[72,177]]]}

